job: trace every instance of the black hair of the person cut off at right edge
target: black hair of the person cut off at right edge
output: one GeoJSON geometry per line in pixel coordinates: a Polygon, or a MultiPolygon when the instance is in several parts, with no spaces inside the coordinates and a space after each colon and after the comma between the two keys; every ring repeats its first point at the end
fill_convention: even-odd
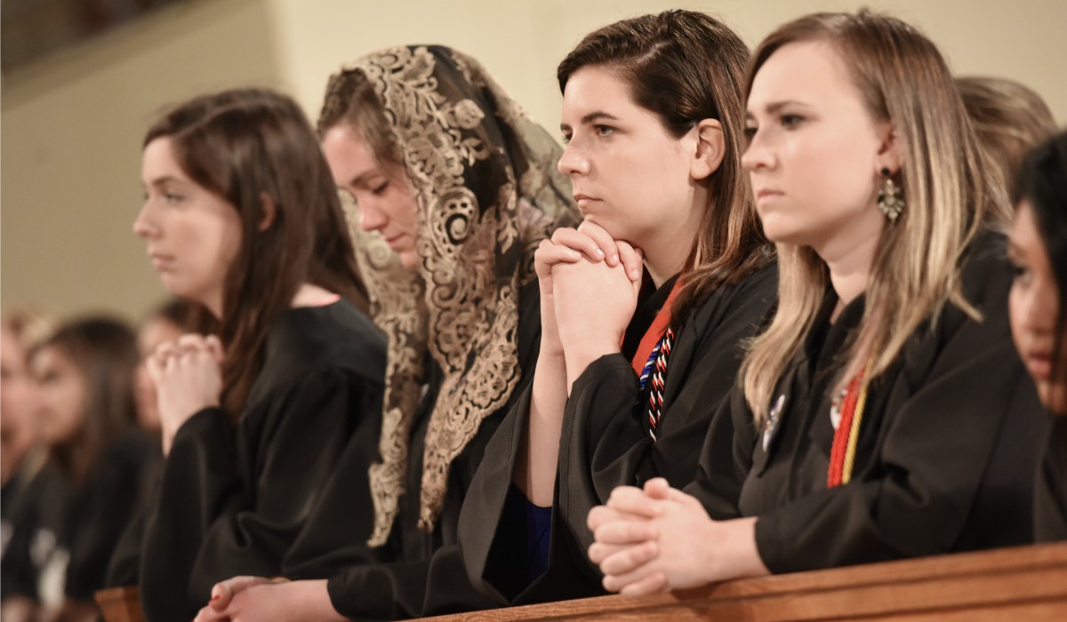
{"type": "MultiPolygon", "coordinates": [[[[1067,132],[1041,143],[1026,156],[1012,198],[1016,205],[1028,202],[1034,210],[1037,230],[1056,278],[1060,298],[1056,334],[1062,336],[1067,330],[1067,132]]],[[[1054,362],[1060,361],[1062,342],[1062,338],[1056,340],[1054,362]]],[[[1067,376],[1064,369],[1053,372],[1067,376]]]]}

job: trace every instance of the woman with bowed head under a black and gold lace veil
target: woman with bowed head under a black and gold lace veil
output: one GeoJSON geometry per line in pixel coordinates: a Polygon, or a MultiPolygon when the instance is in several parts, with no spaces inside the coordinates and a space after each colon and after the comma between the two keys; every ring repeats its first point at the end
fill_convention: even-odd
{"type": "Polygon", "coordinates": [[[359,210],[361,274],[389,339],[381,461],[368,478],[366,456],[347,453],[287,558],[285,576],[328,580],[237,577],[198,619],[491,606],[465,580],[457,523],[537,358],[534,253],[578,219],[559,147],[476,60],[440,46],[382,50],[334,75],[318,127],[359,210]]]}

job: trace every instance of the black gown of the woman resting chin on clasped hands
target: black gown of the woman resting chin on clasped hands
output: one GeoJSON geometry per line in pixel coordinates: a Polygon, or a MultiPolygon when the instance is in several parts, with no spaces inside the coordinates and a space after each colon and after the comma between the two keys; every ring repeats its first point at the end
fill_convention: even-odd
{"type": "Polygon", "coordinates": [[[642,485],[654,477],[675,487],[692,481],[713,415],[735,383],[743,342],[758,332],[777,300],[777,276],[776,266],[766,267],[710,293],[687,314],[667,364],[656,441],[644,416],[648,389],[640,389],[630,358],[673,280],[635,314],[623,353],[602,356],[575,380],[563,412],[548,565],[529,586],[519,548],[526,544],[524,526],[505,520],[529,417],[530,395],[523,396],[490,444],[461,517],[463,556],[480,591],[512,605],[604,593],[602,575],[586,557],[592,543],[589,510],[618,485],[642,485]]]}

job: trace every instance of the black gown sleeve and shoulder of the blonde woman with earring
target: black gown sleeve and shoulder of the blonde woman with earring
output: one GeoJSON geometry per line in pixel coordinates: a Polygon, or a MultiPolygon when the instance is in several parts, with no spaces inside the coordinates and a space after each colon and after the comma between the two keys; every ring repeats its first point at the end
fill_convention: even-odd
{"type": "MultiPolygon", "coordinates": [[[[1007,451],[1023,464],[1033,453],[1021,438],[1038,429],[1040,413],[1008,333],[1008,272],[991,257],[968,272],[965,293],[984,319],[946,308],[939,326],[905,347],[886,419],[870,431],[878,434],[877,463],[859,480],[760,514],[757,546],[771,572],[957,549],[974,528],[990,457],[1007,451]],[[924,360],[931,363],[915,363],[924,360]]],[[[986,492],[1003,511],[1018,489],[986,492]]]]}

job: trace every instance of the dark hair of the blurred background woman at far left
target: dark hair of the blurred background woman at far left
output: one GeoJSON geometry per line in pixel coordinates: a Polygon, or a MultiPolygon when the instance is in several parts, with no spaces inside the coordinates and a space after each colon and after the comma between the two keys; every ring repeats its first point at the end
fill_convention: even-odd
{"type": "Polygon", "coordinates": [[[137,425],[133,371],[137,337],[124,322],[87,317],[63,324],[33,349],[54,348],[65,354],[85,383],[83,422],[74,436],[51,448],[53,459],[75,487],[96,469],[107,449],[137,425]]]}

